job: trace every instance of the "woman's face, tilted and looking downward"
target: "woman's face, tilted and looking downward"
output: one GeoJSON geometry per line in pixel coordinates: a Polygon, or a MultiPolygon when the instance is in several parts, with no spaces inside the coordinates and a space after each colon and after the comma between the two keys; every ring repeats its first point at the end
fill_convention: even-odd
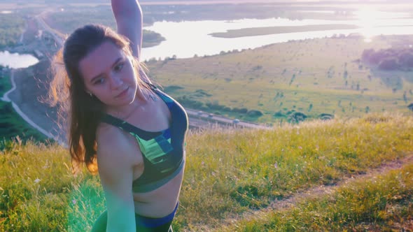
{"type": "Polygon", "coordinates": [[[137,94],[138,83],[132,61],[115,44],[107,41],[80,60],[79,71],[85,90],[109,108],[126,106],[137,94]]]}

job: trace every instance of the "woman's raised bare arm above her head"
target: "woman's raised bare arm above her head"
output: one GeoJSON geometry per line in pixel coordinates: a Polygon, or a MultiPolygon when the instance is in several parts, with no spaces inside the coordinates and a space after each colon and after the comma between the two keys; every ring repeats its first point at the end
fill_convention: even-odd
{"type": "MultiPolygon", "coordinates": [[[[130,40],[132,55],[141,57],[143,37],[143,16],[138,0],[111,0],[113,15],[115,15],[118,33],[130,40]]],[[[139,69],[139,75],[145,82],[151,83],[148,75],[139,69]]]]}

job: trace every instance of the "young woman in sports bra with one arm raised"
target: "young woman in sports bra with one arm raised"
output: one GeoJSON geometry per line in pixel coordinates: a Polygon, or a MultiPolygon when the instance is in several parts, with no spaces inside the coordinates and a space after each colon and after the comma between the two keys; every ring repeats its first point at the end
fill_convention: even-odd
{"type": "Polygon", "coordinates": [[[73,164],[99,172],[107,210],[92,231],[172,231],[188,117],[141,69],[139,2],[111,4],[118,33],[99,25],[76,29],[56,56],[64,68],[50,94],[68,103],[73,164]]]}

